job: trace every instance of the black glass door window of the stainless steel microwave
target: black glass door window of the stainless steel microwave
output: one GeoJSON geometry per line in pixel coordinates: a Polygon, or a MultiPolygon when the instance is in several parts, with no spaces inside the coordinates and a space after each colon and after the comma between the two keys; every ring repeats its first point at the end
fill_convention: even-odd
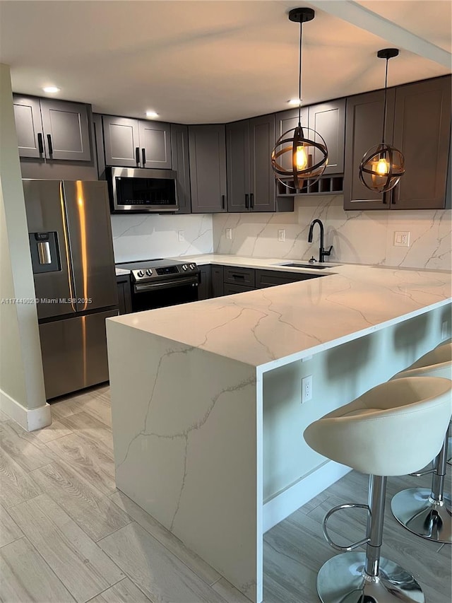
{"type": "Polygon", "coordinates": [[[176,181],[173,178],[116,177],[118,205],[176,205],[176,181]]]}

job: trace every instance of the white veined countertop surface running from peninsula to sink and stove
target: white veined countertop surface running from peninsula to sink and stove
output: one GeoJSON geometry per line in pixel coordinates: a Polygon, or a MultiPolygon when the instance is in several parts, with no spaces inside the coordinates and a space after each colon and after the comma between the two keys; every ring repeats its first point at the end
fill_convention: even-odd
{"type": "Polygon", "coordinates": [[[296,260],[221,254],[177,259],[198,265],[324,275],[321,279],[108,319],[249,365],[266,365],[265,370],[357,339],[452,300],[448,271],[359,264],[334,264],[315,271],[278,266],[296,260]]]}

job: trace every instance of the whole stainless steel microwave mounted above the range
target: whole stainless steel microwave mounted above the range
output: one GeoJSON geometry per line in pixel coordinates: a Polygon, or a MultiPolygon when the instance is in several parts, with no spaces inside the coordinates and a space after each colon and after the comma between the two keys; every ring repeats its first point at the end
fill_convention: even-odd
{"type": "Polygon", "coordinates": [[[173,170],[105,168],[112,213],[163,213],[179,209],[173,170]]]}

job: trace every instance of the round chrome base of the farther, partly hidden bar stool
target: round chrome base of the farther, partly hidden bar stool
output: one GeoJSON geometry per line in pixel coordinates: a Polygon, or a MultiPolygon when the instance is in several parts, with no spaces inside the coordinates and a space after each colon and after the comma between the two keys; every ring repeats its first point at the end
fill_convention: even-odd
{"type": "Polygon", "coordinates": [[[402,490],[391,500],[391,511],[396,520],[410,532],[435,542],[452,542],[452,500],[435,503],[427,488],[402,490]]]}

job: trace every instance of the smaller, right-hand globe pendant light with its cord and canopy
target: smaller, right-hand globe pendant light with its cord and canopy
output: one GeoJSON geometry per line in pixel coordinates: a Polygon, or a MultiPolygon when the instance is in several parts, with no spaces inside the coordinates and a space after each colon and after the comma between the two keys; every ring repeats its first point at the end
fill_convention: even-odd
{"type": "Polygon", "coordinates": [[[359,180],[369,190],[388,192],[393,189],[405,174],[405,158],[398,148],[386,144],[386,91],[388,87],[388,60],[397,57],[397,48],[384,48],[376,53],[379,59],[386,59],[386,77],[384,82],[383,134],[381,144],[377,144],[364,154],[359,164],[359,180]]]}

